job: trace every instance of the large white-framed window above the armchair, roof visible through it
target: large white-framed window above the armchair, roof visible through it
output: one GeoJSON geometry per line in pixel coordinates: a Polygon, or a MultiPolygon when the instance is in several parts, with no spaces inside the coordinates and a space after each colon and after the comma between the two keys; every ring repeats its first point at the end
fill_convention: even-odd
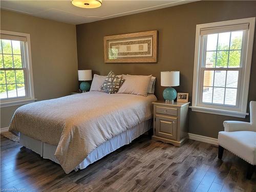
{"type": "Polygon", "coordinates": [[[197,25],[193,111],[245,117],[255,18],[197,25]]]}

